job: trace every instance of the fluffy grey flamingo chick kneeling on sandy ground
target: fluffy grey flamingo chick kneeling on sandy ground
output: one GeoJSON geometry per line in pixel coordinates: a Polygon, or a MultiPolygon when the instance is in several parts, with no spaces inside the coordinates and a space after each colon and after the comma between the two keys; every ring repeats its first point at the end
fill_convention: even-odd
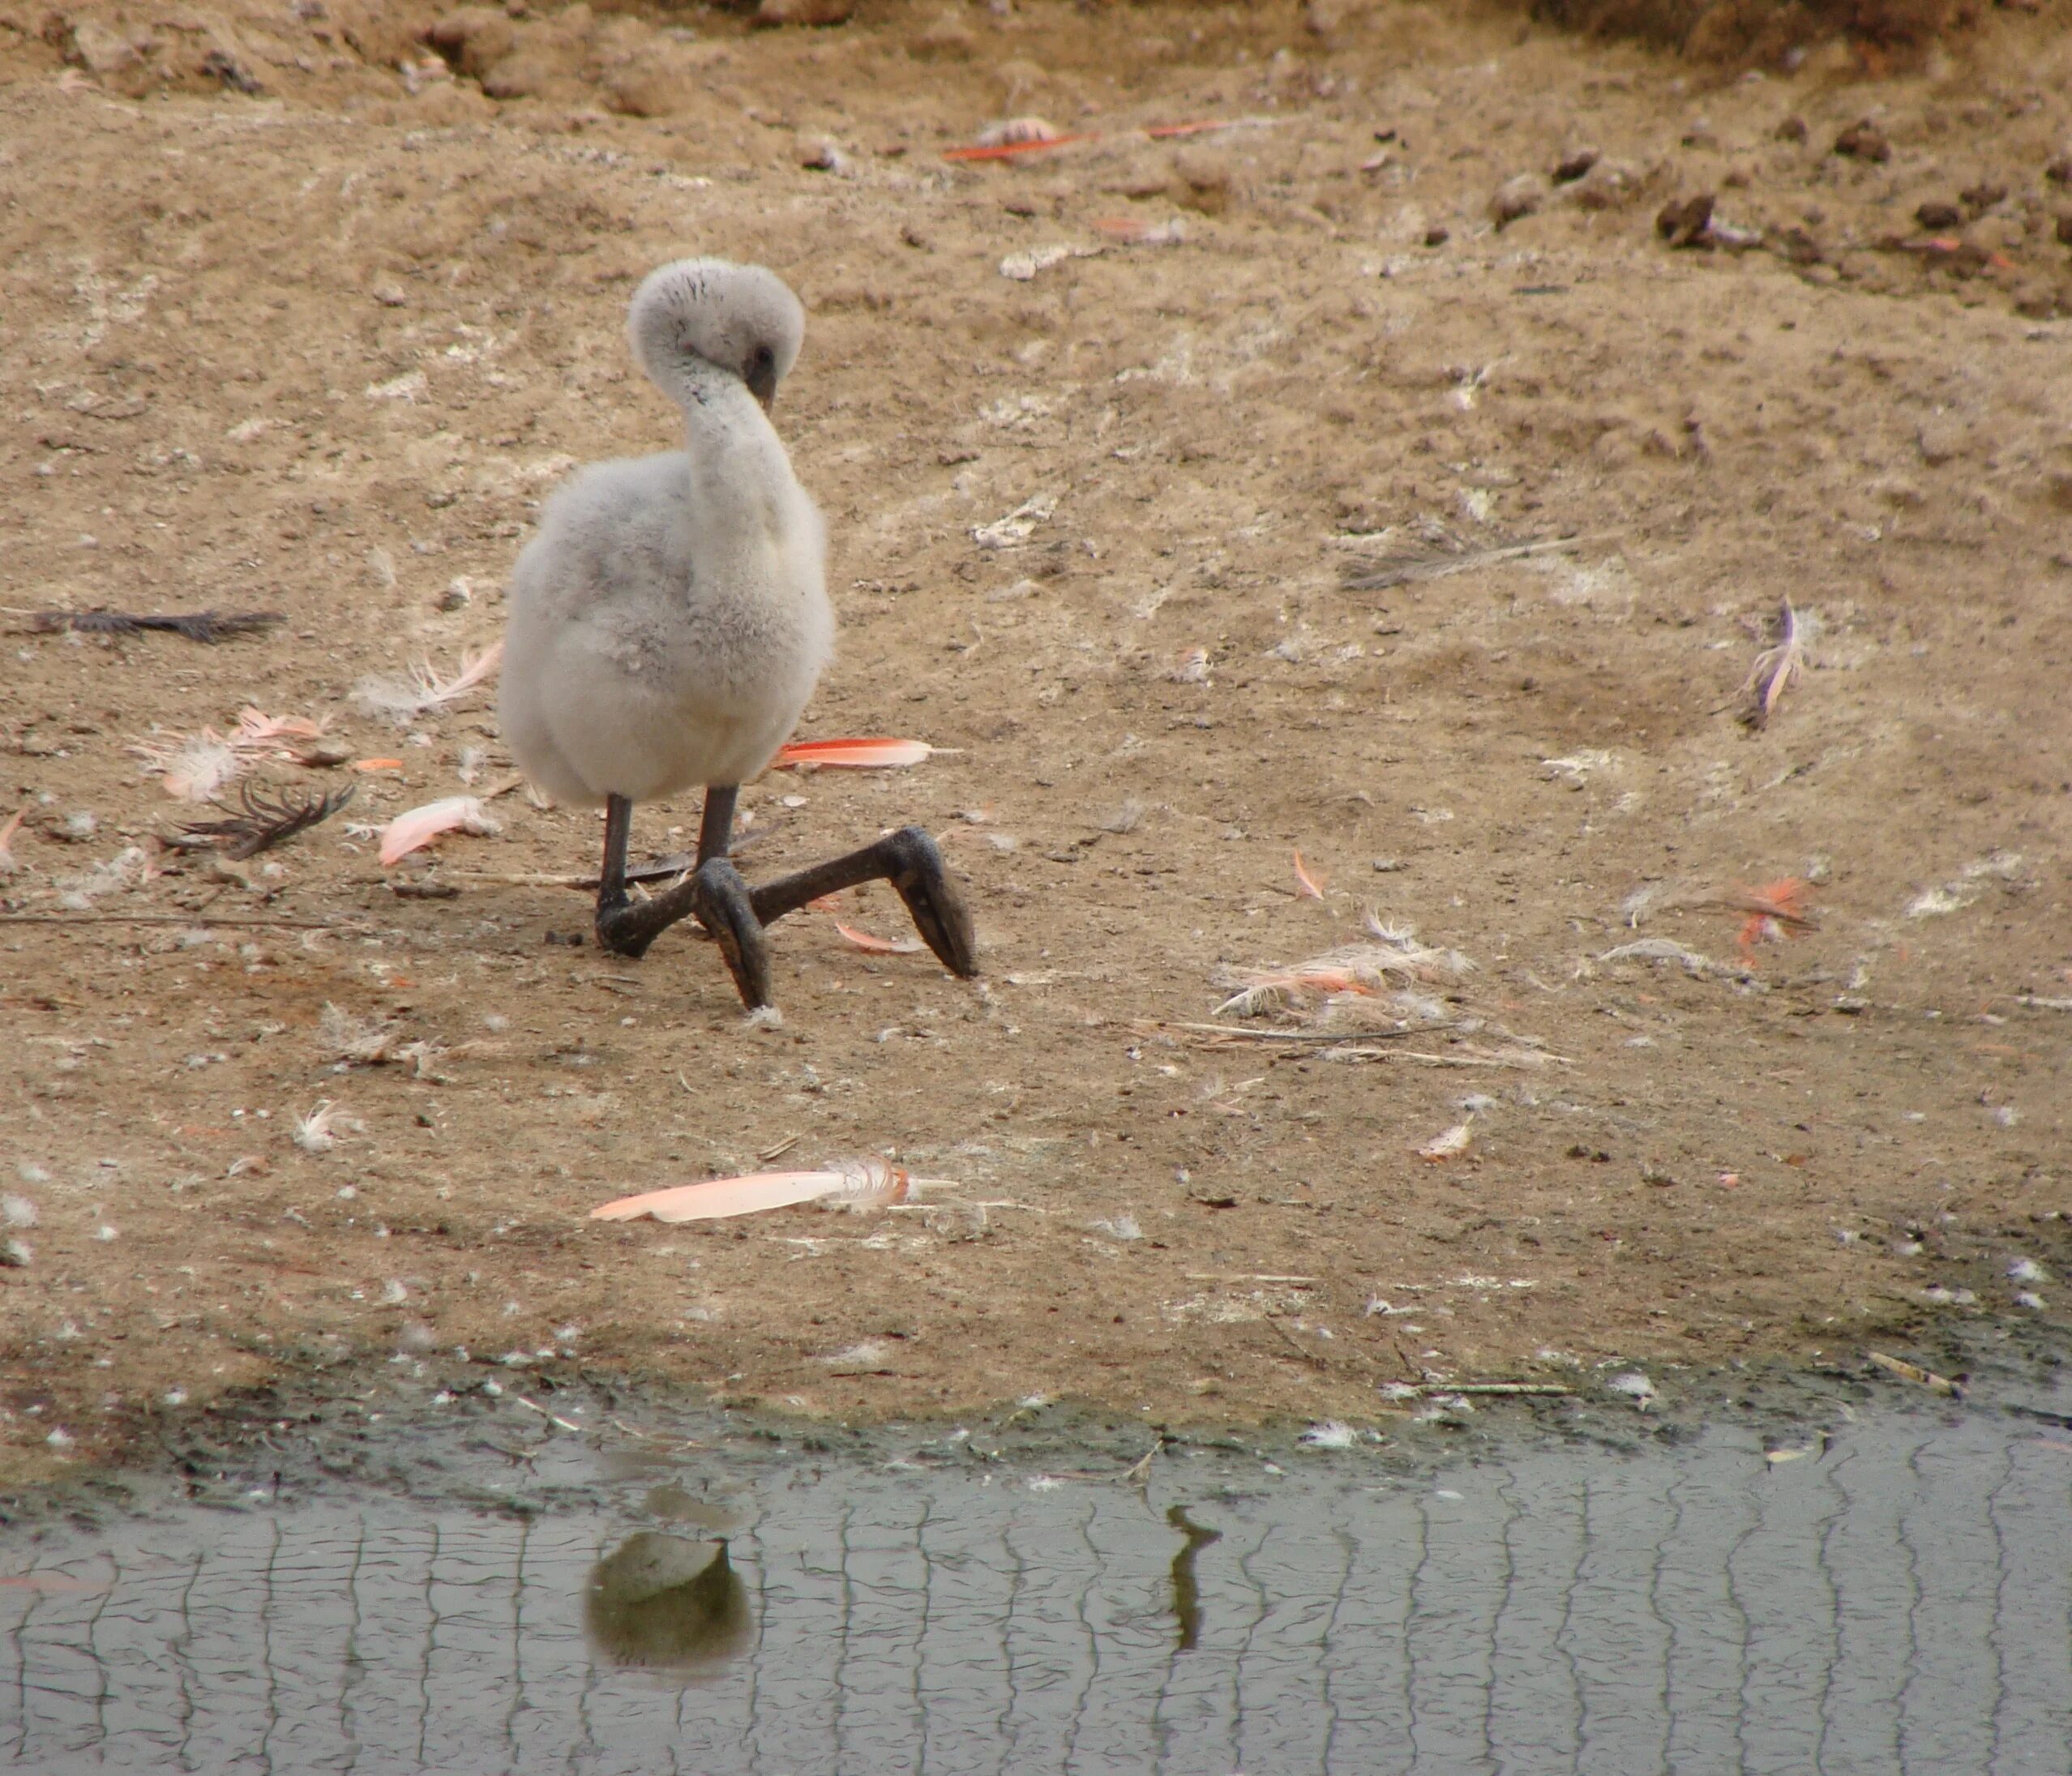
{"type": "Polygon", "coordinates": [[[771,1003],[762,928],[885,879],[953,974],[972,916],[920,827],[750,889],[727,860],[740,785],[789,738],[835,642],[827,531],[769,423],[806,315],[760,265],[680,259],[634,292],[640,369],[684,408],[686,448],[593,462],[518,555],[503,651],[512,754],[555,800],[605,808],[597,941],[640,955],[696,918],[750,1007],[771,1003]],[[696,868],[632,899],[634,802],[704,787],[696,868]]]}

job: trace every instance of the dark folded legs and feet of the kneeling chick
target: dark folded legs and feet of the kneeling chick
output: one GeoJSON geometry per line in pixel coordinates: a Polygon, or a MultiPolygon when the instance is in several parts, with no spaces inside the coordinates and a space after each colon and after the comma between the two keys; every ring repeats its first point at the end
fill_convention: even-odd
{"type": "Polygon", "coordinates": [[[653,899],[626,893],[626,846],[632,837],[634,804],[624,796],[605,800],[605,866],[597,885],[597,943],[613,955],[644,955],[646,947],[682,918],[696,918],[727,957],[727,972],[742,1003],[771,1003],[771,964],[762,926],[775,924],[821,895],[841,893],[868,881],[889,881],[951,974],[978,974],[978,945],[972,914],[943,870],[943,854],[920,827],[901,827],[845,858],[816,864],[750,889],[727,860],[733,835],[733,785],[704,792],[698,825],[698,866],[686,881],[653,899]]]}

